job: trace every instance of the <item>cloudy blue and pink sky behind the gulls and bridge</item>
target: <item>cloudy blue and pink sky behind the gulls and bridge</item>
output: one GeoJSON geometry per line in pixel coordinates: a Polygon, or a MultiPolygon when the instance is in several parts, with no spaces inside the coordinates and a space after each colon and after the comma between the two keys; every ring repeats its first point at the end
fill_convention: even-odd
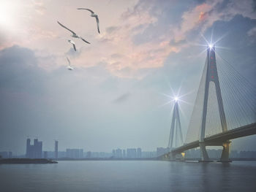
{"type": "MultiPolygon", "coordinates": [[[[218,55],[256,86],[255,9],[253,0],[1,0],[0,151],[25,153],[28,137],[43,150],[55,139],[59,150],[167,147],[173,96],[186,137],[206,40],[219,40],[218,55]],[[100,34],[78,7],[99,15],[100,34]]],[[[235,139],[232,149],[255,142],[235,139]]]]}

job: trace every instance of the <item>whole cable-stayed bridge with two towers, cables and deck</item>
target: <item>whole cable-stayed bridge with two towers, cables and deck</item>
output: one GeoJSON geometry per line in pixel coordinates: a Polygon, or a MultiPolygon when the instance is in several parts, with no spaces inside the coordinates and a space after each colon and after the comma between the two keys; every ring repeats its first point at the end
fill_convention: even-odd
{"type": "Polygon", "coordinates": [[[176,101],[168,144],[170,153],[160,158],[174,160],[175,155],[200,147],[201,160],[209,161],[206,146],[222,146],[220,161],[229,161],[230,139],[256,134],[255,86],[225,59],[219,57],[222,62],[217,63],[216,54],[215,46],[209,46],[185,141],[176,101]]]}

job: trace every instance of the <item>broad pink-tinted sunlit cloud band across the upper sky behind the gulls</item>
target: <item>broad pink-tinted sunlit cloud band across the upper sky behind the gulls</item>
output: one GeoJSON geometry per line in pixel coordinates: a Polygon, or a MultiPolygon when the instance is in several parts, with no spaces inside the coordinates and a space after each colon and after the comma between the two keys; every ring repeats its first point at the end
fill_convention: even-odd
{"type": "Polygon", "coordinates": [[[59,4],[59,1],[20,4],[23,11],[16,18],[21,24],[15,28],[15,34],[4,33],[1,36],[0,49],[12,45],[29,47],[35,50],[37,56],[47,55],[47,58],[51,58],[42,64],[45,58],[42,56],[40,66],[47,69],[54,70],[64,65],[66,55],[70,55],[77,67],[86,69],[104,64],[113,76],[141,79],[145,74],[140,72],[161,68],[171,53],[181,52],[193,42],[198,42],[200,33],[204,33],[215,22],[231,20],[235,15],[255,18],[255,4],[249,0],[172,0],[161,3],[140,0],[134,1],[133,5],[128,1],[122,1],[121,4],[108,4],[116,6],[118,11],[115,15],[110,15],[104,4],[97,7],[100,10],[101,34],[95,32],[95,20],[85,16],[84,12],[77,12],[75,5],[67,1],[63,4],[59,4]],[[120,7],[125,9],[119,11],[120,7]],[[82,17],[86,26],[94,27],[81,25],[77,18],[82,17]],[[91,45],[75,39],[78,51],[72,51],[67,43],[69,32],[56,23],[59,18],[89,39],[91,45]]]}

